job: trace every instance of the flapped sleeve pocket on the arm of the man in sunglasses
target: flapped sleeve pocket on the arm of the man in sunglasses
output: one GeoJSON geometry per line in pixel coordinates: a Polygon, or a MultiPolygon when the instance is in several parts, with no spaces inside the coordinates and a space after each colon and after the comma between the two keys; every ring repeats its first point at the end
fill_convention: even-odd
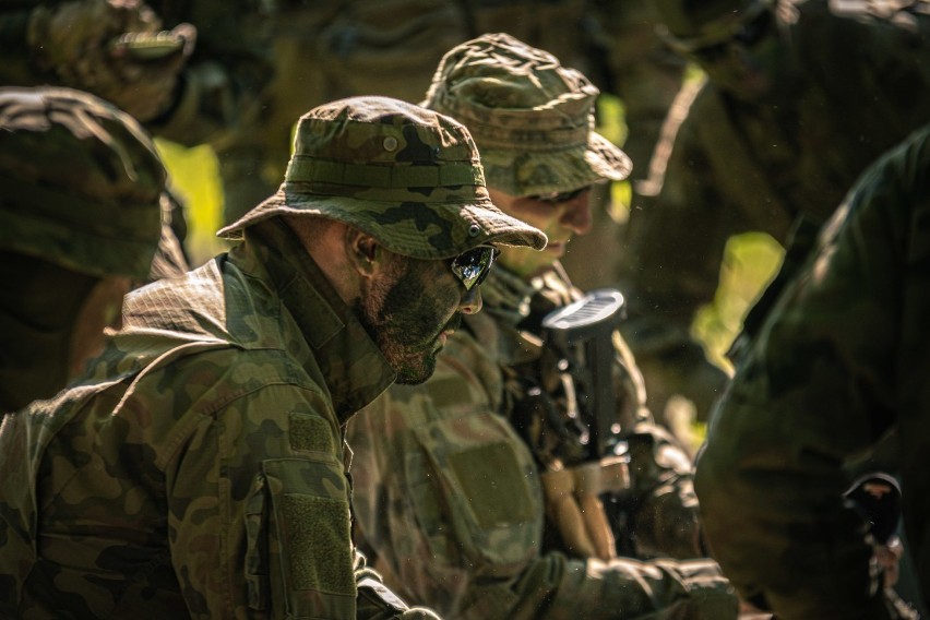
{"type": "MultiPolygon", "coordinates": [[[[343,465],[332,455],[262,463],[265,559],[275,601],[290,618],[355,618],[356,585],[343,465]]],[[[251,508],[251,506],[250,506],[251,508]]],[[[251,511],[250,511],[251,512],[251,511]]],[[[251,538],[251,535],[250,535],[251,538]]],[[[262,533],[255,537],[262,539],[262,533]]],[[[261,547],[261,546],[260,546],[261,547]]]]}

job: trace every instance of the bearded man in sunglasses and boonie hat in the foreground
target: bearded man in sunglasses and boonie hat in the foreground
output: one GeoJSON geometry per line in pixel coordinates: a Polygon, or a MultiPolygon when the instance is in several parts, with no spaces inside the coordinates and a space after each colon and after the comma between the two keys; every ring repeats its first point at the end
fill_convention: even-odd
{"type": "Polygon", "coordinates": [[[242,239],[132,293],[79,386],[0,429],[2,613],[422,618],[354,555],[341,427],[424,381],[494,245],[457,122],[380,97],[301,117],[242,239]]]}

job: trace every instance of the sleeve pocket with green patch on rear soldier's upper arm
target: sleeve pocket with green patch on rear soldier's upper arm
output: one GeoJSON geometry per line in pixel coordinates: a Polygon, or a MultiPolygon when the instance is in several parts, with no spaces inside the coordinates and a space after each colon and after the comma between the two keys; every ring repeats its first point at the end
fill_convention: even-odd
{"type": "Polygon", "coordinates": [[[410,440],[405,476],[437,555],[461,553],[489,576],[510,575],[536,555],[539,480],[505,420],[487,413],[433,421],[410,440]]]}

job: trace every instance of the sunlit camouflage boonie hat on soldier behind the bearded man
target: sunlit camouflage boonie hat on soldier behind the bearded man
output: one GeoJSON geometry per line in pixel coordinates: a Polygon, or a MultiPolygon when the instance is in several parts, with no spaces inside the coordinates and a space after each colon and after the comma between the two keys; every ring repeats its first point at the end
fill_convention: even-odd
{"type": "Polygon", "coordinates": [[[489,34],[442,58],[422,105],[468,128],[489,187],[523,196],[630,175],[627,154],[594,131],[598,94],[551,53],[489,34]]]}

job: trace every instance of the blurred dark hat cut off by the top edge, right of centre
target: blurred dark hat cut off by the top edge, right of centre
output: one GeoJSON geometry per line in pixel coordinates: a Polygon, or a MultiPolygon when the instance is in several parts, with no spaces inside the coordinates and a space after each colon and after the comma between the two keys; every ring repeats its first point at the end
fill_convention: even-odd
{"type": "Polygon", "coordinates": [[[726,43],[768,10],[772,0],[658,0],[664,37],[679,53],[726,43]]]}

